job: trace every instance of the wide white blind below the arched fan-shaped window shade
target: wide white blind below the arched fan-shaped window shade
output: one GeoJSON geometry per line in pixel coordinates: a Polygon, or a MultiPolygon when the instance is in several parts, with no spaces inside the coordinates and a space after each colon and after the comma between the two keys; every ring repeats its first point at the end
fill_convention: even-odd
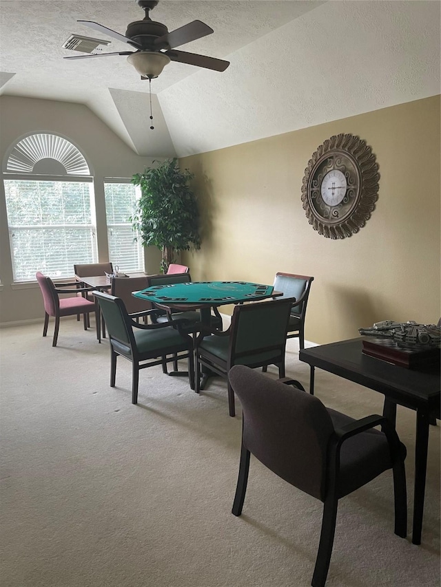
{"type": "Polygon", "coordinates": [[[4,180],[14,281],[72,277],[96,263],[91,182],[4,180]]]}

